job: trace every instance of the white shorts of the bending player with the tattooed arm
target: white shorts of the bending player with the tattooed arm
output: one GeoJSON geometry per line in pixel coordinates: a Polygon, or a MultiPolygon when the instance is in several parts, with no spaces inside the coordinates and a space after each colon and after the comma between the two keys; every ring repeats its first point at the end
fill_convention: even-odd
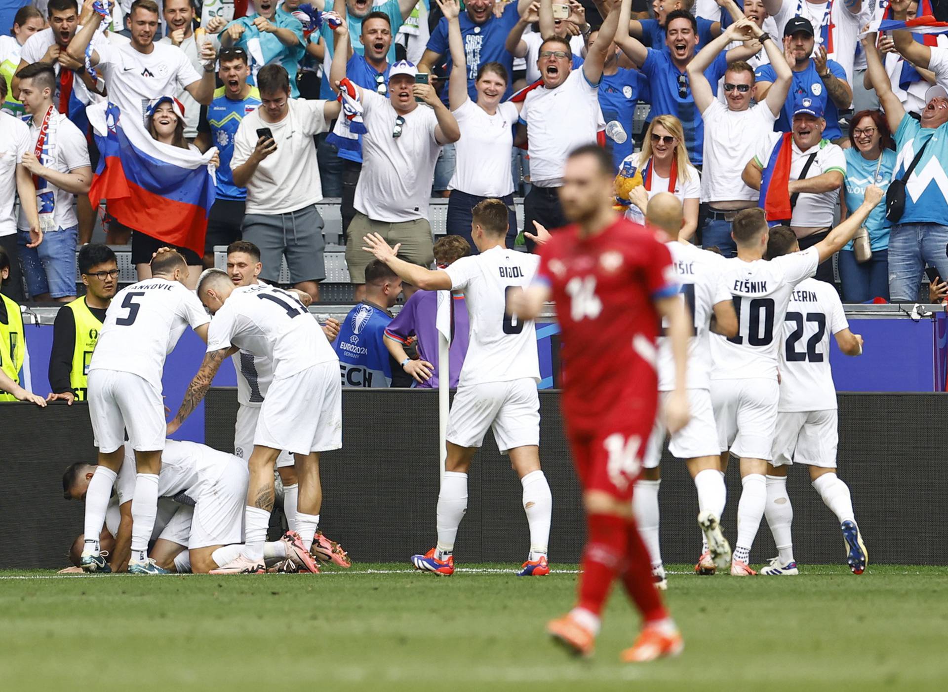
{"type": "Polygon", "coordinates": [[[342,448],[342,382],[337,361],[274,378],[260,407],[255,445],[294,454],[342,448]]]}

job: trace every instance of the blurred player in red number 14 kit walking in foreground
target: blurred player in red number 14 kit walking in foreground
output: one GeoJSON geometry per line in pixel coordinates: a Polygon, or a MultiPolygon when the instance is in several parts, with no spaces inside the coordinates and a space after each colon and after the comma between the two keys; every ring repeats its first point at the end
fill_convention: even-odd
{"type": "Polygon", "coordinates": [[[619,577],[645,619],[623,660],[651,661],[680,653],[684,642],[655,588],[632,515],[632,488],[655,422],[655,337],[662,317],[677,374],[666,422],[672,431],[687,422],[689,327],[667,248],[613,211],[612,194],[609,155],[596,146],[575,150],[559,190],[572,223],[543,245],[535,283],[512,295],[508,308],[533,319],[545,301],[556,301],[563,414],[587,514],[578,602],[548,631],[575,653],[590,655],[599,613],[619,577]]]}

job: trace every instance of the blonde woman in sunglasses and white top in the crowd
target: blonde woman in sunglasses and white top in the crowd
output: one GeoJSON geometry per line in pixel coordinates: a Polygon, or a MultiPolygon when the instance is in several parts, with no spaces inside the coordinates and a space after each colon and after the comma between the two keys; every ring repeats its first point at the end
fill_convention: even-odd
{"type": "Polygon", "coordinates": [[[642,173],[646,192],[632,195],[629,209],[634,220],[645,220],[648,199],[659,192],[671,192],[684,207],[684,225],[678,237],[681,240],[694,238],[702,180],[698,169],[688,163],[681,120],[674,115],[656,115],[648,125],[642,151],[628,156],[626,161],[629,160],[642,173]]]}

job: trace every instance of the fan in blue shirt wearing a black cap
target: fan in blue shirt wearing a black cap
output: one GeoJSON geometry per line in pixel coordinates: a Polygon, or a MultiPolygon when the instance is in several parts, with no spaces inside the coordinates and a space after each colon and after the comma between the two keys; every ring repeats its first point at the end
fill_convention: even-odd
{"type": "MultiPolygon", "coordinates": [[[[797,99],[808,97],[819,102],[826,114],[827,128],[823,136],[834,140],[843,136],[839,129],[839,109],[848,108],[852,103],[852,87],[846,78],[846,71],[836,61],[827,60],[827,52],[820,46],[813,52],[816,44],[813,39],[813,26],[803,17],[793,17],[783,31],[784,38],[791,37],[790,49],[793,52],[793,83],[790,94],[784,104],[780,117],[774,123],[778,133],[789,133],[793,125],[793,103],[797,99]],[[811,57],[812,55],[812,57],[811,57]]],[[[757,80],[757,100],[767,98],[767,92],[776,80],[774,68],[760,65],[754,73],[757,80]]]]}

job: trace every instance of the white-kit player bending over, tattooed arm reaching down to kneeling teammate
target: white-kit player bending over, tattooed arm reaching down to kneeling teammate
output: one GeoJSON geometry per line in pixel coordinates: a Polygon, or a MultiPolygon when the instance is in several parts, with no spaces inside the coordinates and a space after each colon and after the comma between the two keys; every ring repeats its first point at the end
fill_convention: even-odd
{"type": "MultiPolygon", "coordinates": [[[[197,294],[214,315],[208,352],[191,381],[172,433],[204,399],[224,359],[243,348],[273,362],[247,461],[250,481],[241,554],[212,574],[257,573],[274,502],[273,470],[282,450],[293,452],[300,477],[297,530],[308,551],[319,528],[322,488],[319,453],[342,447],[342,385],[336,351],[295,293],[264,284],[235,287],[226,272],[209,269],[197,294]]],[[[318,571],[318,570],[314,570],[318,571]]]]}

